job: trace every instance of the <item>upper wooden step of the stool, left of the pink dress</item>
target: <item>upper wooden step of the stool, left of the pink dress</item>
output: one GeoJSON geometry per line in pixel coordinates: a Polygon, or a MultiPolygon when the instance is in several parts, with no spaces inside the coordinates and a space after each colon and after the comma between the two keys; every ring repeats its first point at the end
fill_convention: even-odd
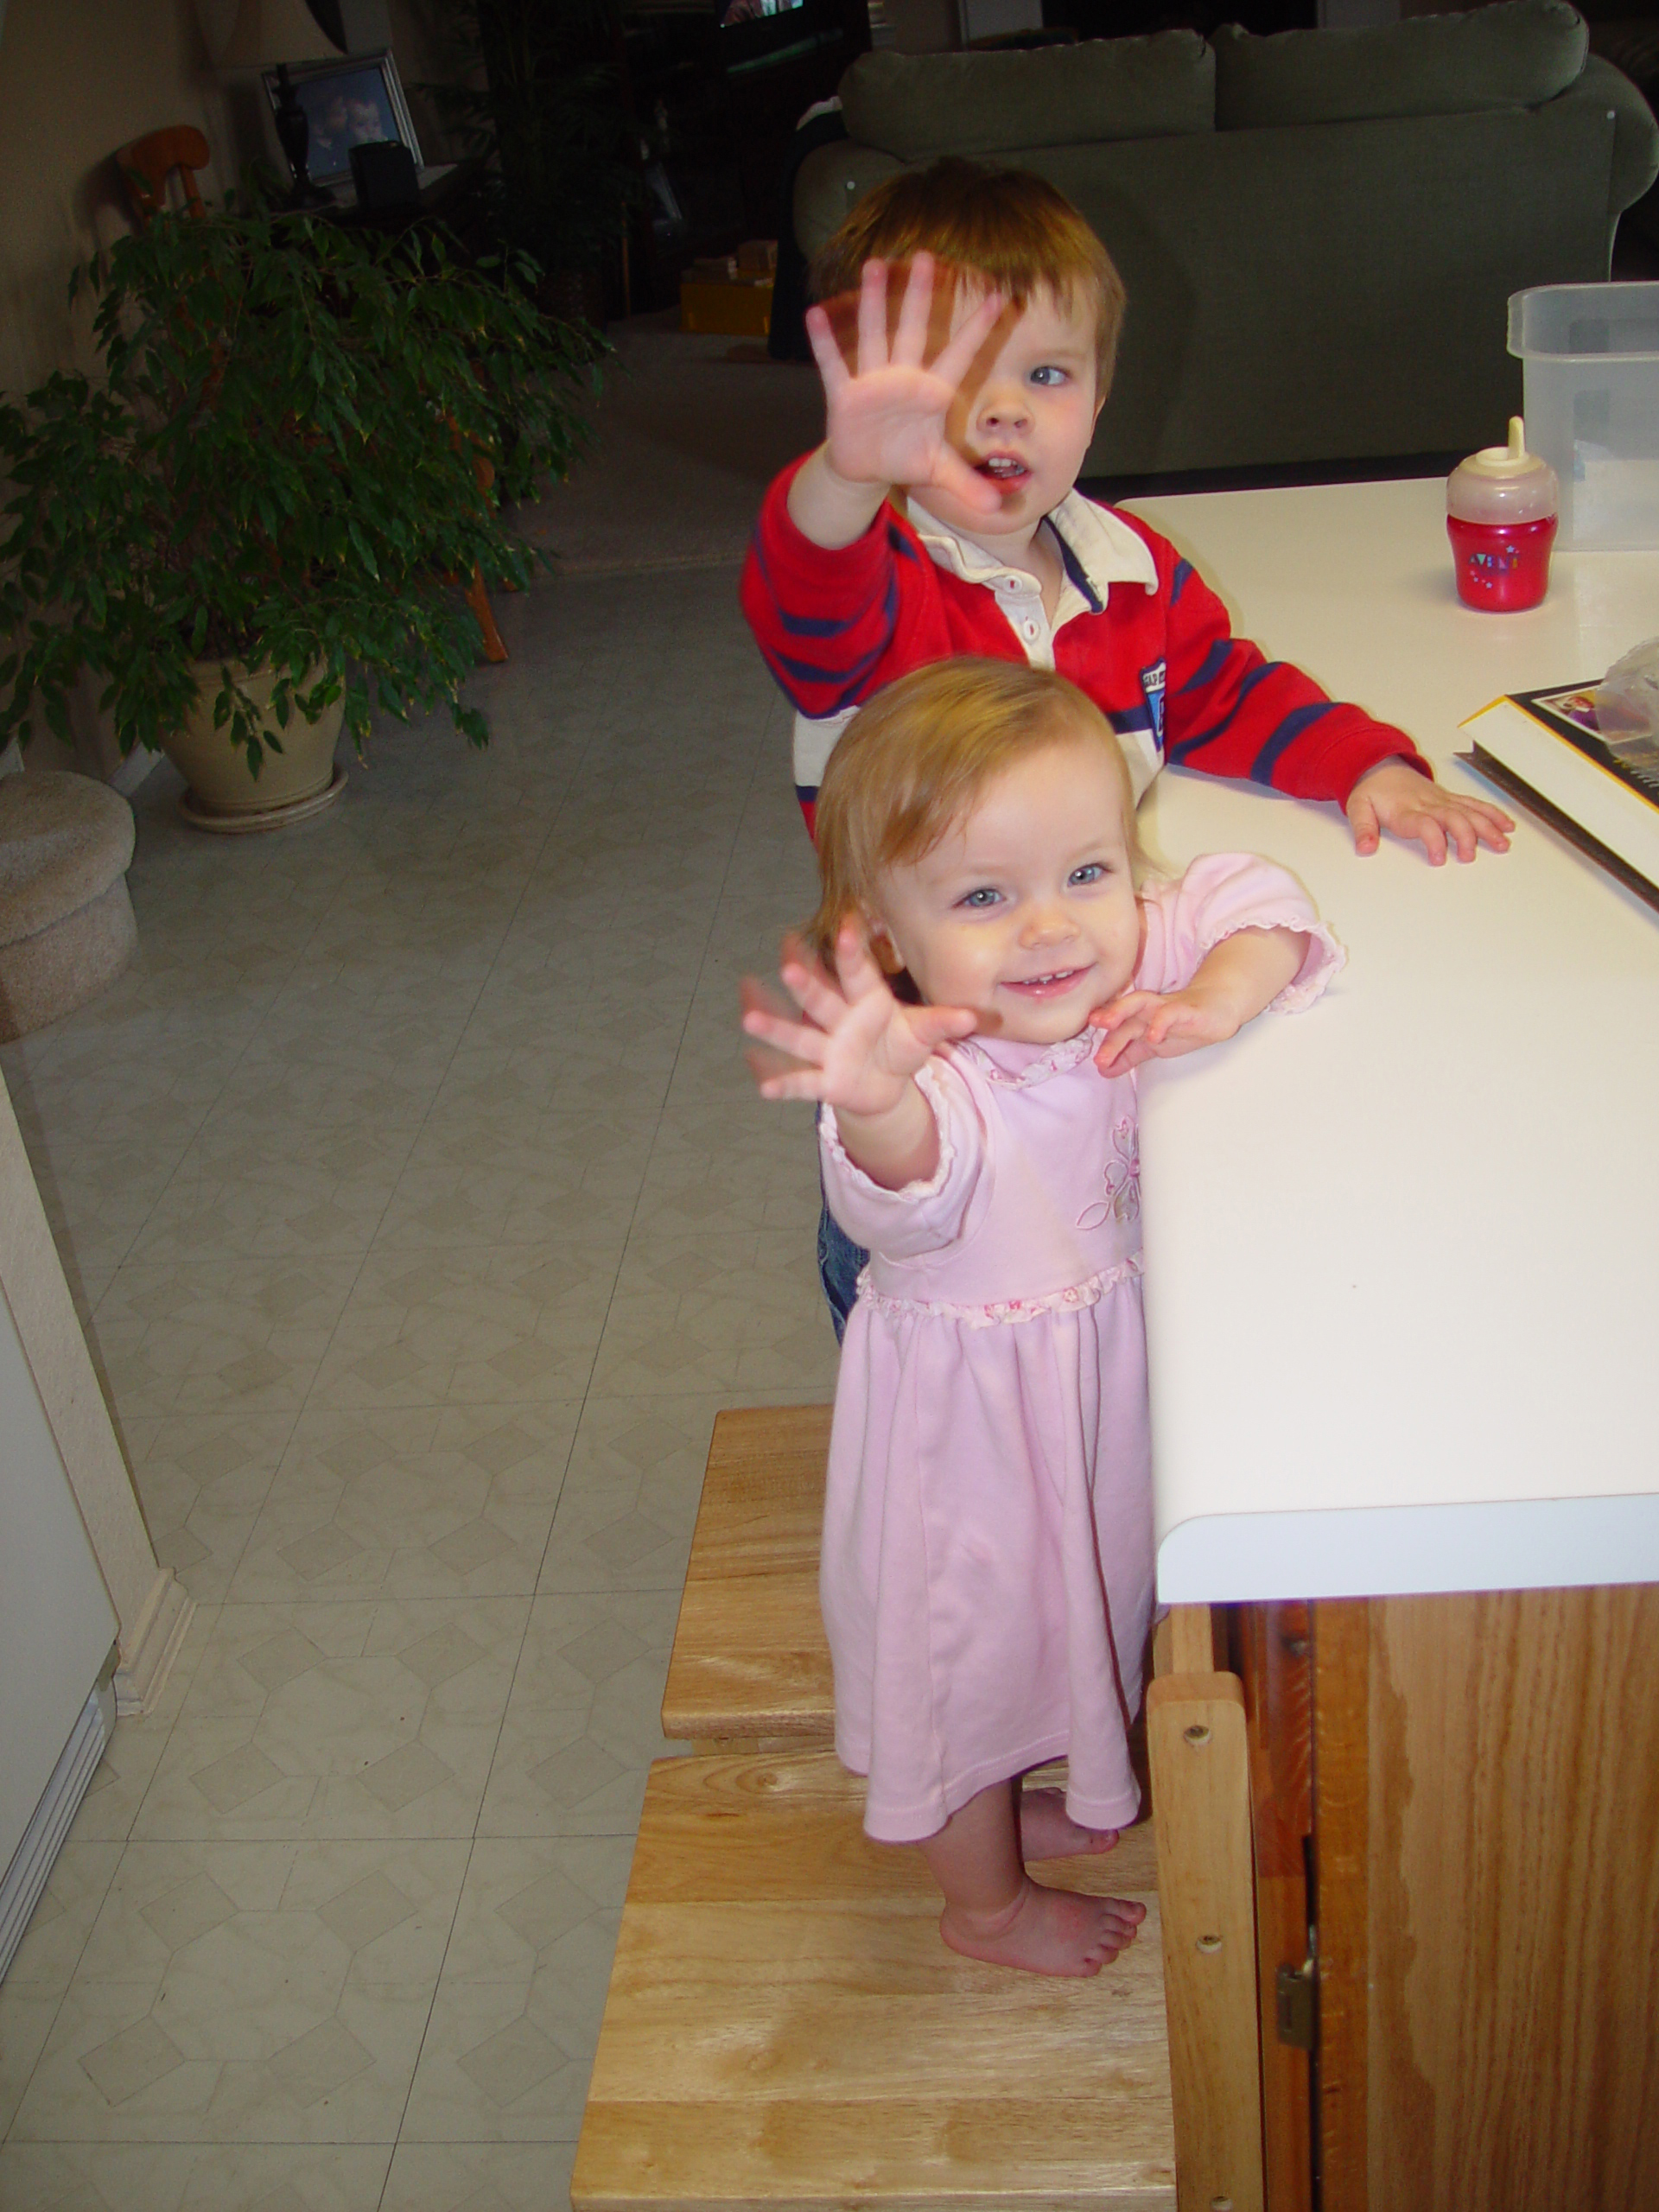
{"type": "Polygon", "coordinates": [[[818,1613],[827,1458],[827,1405],[714,1416],[661,1701],[666,1736],[699,1752],[834,1739],[818,1613]]]}

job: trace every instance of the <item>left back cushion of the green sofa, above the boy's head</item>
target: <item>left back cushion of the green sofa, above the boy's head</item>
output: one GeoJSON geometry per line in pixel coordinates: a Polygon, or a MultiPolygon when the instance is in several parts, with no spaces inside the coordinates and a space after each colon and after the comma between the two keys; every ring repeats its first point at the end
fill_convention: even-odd
{"type": "Polygon", "coordinates": [[[1214,55],[1197,31],[1029,53],[863,53],[841,106],[847,137],[900,161],[1177,137],[1214,128],[1214,55]]]}

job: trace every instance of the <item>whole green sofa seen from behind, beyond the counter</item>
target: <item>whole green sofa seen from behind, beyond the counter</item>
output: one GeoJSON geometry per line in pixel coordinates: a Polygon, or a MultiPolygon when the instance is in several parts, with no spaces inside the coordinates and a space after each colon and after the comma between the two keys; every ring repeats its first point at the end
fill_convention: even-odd
{"type": "Polygon", "coordinates": [[[1029,53],[867,53],[810,153],[812,254],[900,166],[1033,168],[1128,288],[1088,476],[1469,451],[1520,409],[1504,303],[1608,274],[1659,173],[1564,0],[1387,29],[1225,27],[1029,53]]]}

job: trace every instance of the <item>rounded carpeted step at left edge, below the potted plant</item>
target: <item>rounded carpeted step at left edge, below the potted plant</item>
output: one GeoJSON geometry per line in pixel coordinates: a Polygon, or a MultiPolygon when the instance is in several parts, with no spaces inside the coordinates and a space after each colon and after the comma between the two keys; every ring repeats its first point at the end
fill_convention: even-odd
{"type": "Polygon", "coordinates": [[[133,810],[106,783],[0,776],[0,1042],[84,1006],[133,958],[131,858],[133,810]]]}

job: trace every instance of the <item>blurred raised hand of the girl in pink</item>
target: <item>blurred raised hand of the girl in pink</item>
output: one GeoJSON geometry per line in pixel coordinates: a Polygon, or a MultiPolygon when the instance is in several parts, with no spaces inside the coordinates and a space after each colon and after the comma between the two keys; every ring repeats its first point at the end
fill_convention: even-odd
{"type": "Polygon", "coordinates": [[[847,922],[836,940],[836,973],[790,938],[779,969],[805,1020],[792,1020],[748,975],[741,984],[743,1033],[759,1042],[743,1055],[768,1099],[818,1099],[838,1113],[878,1117],[902,1106],[916,1071],[947,1037],[967,1037],[967,1006],[905,1006],[887,989],[863,929],[847,922]]]}

